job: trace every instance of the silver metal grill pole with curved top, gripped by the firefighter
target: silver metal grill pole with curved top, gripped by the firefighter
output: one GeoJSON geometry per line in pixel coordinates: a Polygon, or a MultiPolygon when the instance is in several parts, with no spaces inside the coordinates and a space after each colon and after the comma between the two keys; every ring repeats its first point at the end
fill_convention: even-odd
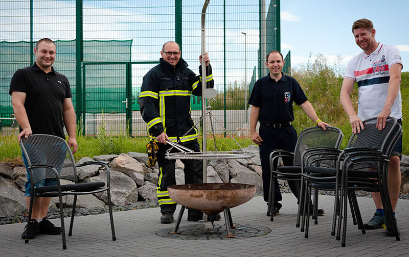
{"type": "MultiPolygon", "coordinates": [[[[201,10],[201,56],[203,57],[206,53],[206,32],[205,32],[205,24],[206,24],[206,9],[208,8],[208,5],[210,3],[210,0],[206,0],[205,4],[203,5],[203,8],[201,10]]],[[[202,119],[202,135],[203,135],[203,141],[202,141],[202,148],[203,152],[207,151],[207,142],[206,142],[206,125],[207,125],[207,117],[206,117],[206,107],[207,107],[207,99],[206,99],[206,63],[203,61],[203,58],[201,59],[201,115],[203,117],[202,119]]],[[[207,183],[207,161],[206,159],[203,160],[203,183],[207,183]]]]}

